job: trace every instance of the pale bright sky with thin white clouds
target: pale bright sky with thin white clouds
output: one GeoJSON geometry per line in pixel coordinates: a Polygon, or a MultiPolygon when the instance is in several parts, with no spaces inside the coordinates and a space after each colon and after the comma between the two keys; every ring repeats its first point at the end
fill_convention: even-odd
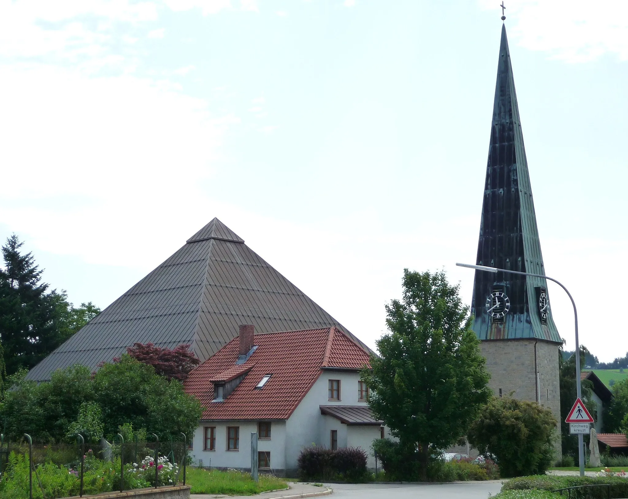
{"type": "MultiPolygon", "coordinates": [[[[0,240],[104,308],[218,217],[367,344],[403,269],[470,303],[497,0],[0,0],[0,240]]],[[[506,1],[548,276],[628,351],[628,3],[506,1]]],[[[573,349],[573,310],[549,283],[573,349]]]]}

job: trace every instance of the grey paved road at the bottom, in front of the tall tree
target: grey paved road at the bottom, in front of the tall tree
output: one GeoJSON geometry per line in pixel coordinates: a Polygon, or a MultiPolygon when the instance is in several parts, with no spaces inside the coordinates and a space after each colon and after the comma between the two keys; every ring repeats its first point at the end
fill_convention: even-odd
{"type": "Polygon", "coordinates": [[[487,499],[502,488],[500,480],[465,481],[442,485],[325,484],[333,488],[333,498],[350,499],[487,499]]]}

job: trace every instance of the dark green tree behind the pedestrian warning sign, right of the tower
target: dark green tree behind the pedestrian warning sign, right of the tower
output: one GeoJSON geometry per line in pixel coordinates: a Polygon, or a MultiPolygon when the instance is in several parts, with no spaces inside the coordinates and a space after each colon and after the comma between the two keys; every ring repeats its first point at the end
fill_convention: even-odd
{"type": "MultiPolygon", "coordinates": [[[[587,356],[591,356],[591,353],[587,350],[586,346],[581,345],[580,365],[585,365],[584,360],[587,356]]],[[[558,355],[558,382],[560,387],[561,448],[563,450],[563,456],[572,456],[577,459],[578,436],[569,434],[569,424],[565,422],[577,398],[575,355],[571,355],[571,357],[567,359],[564,359],[563,355],[558,355]]],[[[597,421],[599,415],[597,414],[597,404],[595,404],[595,400],[593,400],[593,383],[589,380],[582,380],[580,384],[582,386],[582,402],[587,406],[593,419],[597,421]]],[[[585,435],[584,438],[585,442],[588,442],[588,435],[585,435]]]]}

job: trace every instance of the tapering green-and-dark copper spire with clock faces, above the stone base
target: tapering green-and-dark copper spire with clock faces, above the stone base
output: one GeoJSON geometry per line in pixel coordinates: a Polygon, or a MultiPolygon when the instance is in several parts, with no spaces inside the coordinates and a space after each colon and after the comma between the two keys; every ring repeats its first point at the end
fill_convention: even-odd
{"type": "MultiPolygon", "coordinates": [[[[477,264],[544,274],[543,255],[506,26],[502,25],[493,103],[489,158],[484,185],[477,264]]],[[[498,272],[475,272],[472,313],[480,340],[538,338],[560,343],[556,326],[541,312],[545,279],[498,272]]]]}

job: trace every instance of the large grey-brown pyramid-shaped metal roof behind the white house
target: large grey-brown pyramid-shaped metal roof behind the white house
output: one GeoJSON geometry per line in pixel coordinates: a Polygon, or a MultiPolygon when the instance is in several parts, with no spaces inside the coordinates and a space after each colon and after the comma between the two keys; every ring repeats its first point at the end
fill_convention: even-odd
{"type": "Polygon", "coordinates": [[[75,363],[95,369],[135,342],[189,343],[203,362],[237,336],[241,324],[254,325],[256,333],[340,326],[364,346],[214,218],[27,378],[48,380],[75,363]]]}

